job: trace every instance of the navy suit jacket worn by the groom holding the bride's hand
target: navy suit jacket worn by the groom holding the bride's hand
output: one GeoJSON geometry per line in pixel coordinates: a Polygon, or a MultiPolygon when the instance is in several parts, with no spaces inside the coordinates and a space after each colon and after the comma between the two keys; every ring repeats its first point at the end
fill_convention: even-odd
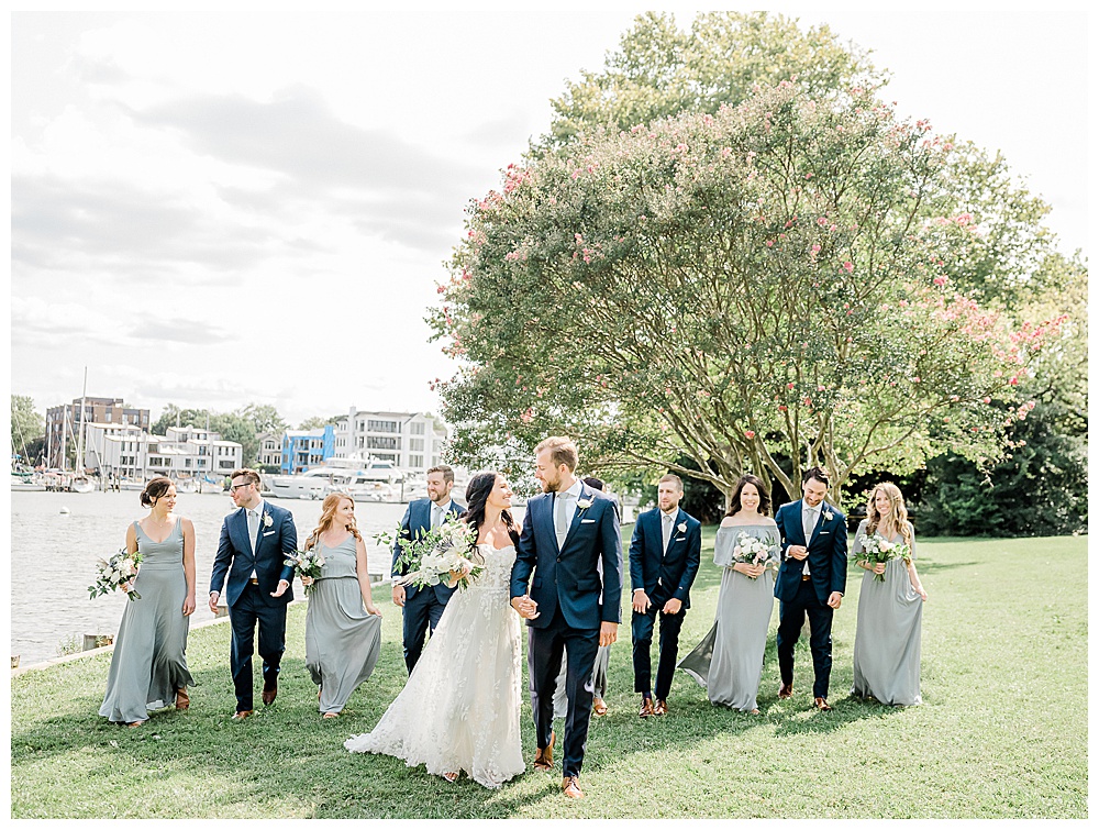
{"type": "Polygon", "coordinates": [[[553,523],[553,494],[544,493],[526,502],[523,533],[511,569],[511,596],[523,596],[530,583],[539,617],[528,620],[528,626],[545,628],[556,612],[574,629],[598,629],[600,622],[622,621],[618,510],[607,495],[581,484],[578,501],[586,499],[591,505],[585,509],[577,506],[560,550],[553,523]],[[600,561],[602,580],[596,567],[600,561]]]}

